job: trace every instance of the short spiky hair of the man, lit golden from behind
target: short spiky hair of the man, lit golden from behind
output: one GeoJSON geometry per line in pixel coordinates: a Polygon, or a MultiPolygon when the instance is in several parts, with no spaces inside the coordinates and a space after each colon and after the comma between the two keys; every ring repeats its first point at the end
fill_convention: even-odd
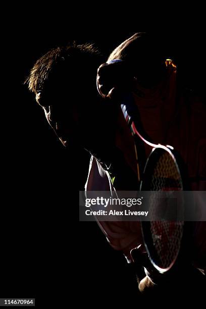
{"type": "Polygon", "coordinates": [[[89,81],[86,86],[91,83],[95,85],[96,71],[101,61],[101,54],[93,44],[77,45],[73,42],[66,47],[53,48],[39,58],[25,83],[35,94],[53,86],[68,90],[70,83],[79,83],[80,74],[86,84],[89,81]]]}

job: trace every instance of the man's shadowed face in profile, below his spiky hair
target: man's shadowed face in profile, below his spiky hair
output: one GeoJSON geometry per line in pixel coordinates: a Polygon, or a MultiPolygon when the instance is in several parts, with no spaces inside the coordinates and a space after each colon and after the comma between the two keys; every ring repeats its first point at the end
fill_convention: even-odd
{"type": "Polygon", "coordinates": [[[114,147],[115,111],[92,82],[80,78],[67,85],[48,84],[36,93],[36,101],[65,147],[84,148],[97,158],[114,147]]]}

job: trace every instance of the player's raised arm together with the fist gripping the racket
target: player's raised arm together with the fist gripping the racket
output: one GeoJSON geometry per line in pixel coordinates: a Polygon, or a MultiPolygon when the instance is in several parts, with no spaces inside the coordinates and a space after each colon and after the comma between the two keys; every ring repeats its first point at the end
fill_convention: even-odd
{"type": "Polygon", "coordinates": [[[107,95],[117,87],[121,91],[134,90],[137,85],[155,87],[166,76],[166,55],[165,43],[158,34],[135,33],[117,46],[107,63],[99,67],[101,94],[107,95]]]}

